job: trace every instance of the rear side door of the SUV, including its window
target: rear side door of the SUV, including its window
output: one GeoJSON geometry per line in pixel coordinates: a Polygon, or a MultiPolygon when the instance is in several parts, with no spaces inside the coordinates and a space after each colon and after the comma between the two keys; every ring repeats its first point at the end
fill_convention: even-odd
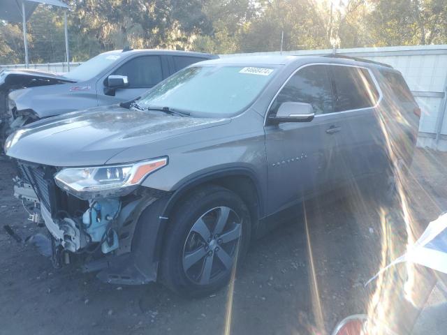
{"type": "Polygon", "coordinates": [[[334,114],[342,124],[339,168],[342,184],[381,170],[383,133],[376,105],[379,89],[368,68],[344,64],[329,66],[334,92],[334,114]]]}

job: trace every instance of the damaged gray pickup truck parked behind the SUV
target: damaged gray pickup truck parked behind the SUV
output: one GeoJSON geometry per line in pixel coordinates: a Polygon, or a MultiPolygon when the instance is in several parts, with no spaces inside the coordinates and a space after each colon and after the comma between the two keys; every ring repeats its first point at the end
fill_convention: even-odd
{"type": "Polygon", "coordinates": [[[170,50],[115,50],[69,73],[0,72],[0,142],[17,128],[54,115],[128,101],[212,54],[170,50]],[[9,95],[9,97],[8,97],[9,95]]]}

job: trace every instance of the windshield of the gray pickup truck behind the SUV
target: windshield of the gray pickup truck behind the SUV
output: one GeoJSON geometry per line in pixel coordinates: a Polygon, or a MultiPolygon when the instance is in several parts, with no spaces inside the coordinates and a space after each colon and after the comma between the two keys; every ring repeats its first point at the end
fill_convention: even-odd
{"type": "Polygon", "coordinates": [[[69,73],[64,75],[64,77],[77,80],[78,82],[89,80],[90,78],[98,75],[98,73],[101,73],[102,70],[107,68],[119,58],[121,58],[120,54],[110,54],[109,52],[98,54],[85,63],[82,63],[77,68],[71,70],[69,73]]]}

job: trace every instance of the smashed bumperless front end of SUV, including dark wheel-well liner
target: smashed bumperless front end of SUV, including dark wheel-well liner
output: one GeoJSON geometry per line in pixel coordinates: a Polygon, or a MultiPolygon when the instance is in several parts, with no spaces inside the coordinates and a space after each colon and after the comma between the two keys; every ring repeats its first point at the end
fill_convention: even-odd
{"type": "MultiPolygon", "coordinates": [[[[22,200],[31,185],[34,218],[52,239],[55,265],[77,263],[108,283],[156,281],[162,214],[170,193],[140,187],[117,198],[80,200],[54,184],[51,167],[19,164],[22,200]]],[[[17,183],[16,183],[17,184],[17,183]]]]}

